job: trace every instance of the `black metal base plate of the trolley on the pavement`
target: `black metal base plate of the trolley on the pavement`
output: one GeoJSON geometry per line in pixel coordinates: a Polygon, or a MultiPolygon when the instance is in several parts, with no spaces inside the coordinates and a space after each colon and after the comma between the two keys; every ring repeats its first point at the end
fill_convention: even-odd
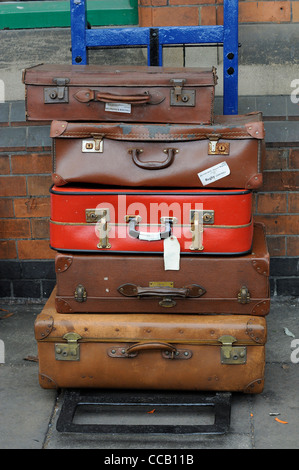
{"type": "MultiPolygon", "coordinates": [[[[66,389],[64,401],[57,420],[59,432],[107,433],[107,434],[225,434],[229,430],[231,393],[197,392],[153,392],[153,391],[116,391],[66,389]],[[74,416],[78,406],[115,406],[117,409],[132,406],[151,406],[155,409],[180,407],[181,411],[190,408],[194,412],[202,408],[213,407],[213,424],[78,424],[74,416]]],[[[200,416],[200,415],[199,415],[200,416]]]]}

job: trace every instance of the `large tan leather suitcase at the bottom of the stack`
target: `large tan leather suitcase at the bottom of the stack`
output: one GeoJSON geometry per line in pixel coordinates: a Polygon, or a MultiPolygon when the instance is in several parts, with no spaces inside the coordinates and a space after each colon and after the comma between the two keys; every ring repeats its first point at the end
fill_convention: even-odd
{"type": "Polygon", "coordinates": [[[266,321],[247,315],[60,315],[35,321],[43,388],[260,393],[266,321]]]}

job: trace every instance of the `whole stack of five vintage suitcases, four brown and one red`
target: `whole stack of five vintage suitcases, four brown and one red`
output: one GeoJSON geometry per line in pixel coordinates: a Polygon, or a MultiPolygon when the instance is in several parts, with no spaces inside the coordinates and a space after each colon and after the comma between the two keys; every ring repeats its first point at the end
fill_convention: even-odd
{"type": "Polygon", "coordinates": [[[39,65],[56,287],[43,388],[260,393],[269,313],[261,113],[214,116],[214,68],[39,65]]]}

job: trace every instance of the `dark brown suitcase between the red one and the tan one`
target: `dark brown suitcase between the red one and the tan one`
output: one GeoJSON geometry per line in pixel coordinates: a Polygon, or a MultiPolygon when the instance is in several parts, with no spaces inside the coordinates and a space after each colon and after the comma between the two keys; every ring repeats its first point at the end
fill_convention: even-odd
{"type": "Polygon", "coordinates": [[[270,309],[269,253],[255,224],[252,253],[182,256],[164,269],[162,256],[57,253],[58,313],[179,313],[264,316],[270,309]]]}

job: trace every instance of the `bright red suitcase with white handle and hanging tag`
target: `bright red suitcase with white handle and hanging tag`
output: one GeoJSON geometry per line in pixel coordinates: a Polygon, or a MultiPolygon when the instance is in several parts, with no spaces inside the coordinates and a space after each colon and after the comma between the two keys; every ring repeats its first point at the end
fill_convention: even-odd
{"type": "Polygon", "coordinates": [[[168,265],[180,253],[251,250],[249,190],[53,186],[50,191],[50,242],[58,251],[164,253],[168,265]]]}

